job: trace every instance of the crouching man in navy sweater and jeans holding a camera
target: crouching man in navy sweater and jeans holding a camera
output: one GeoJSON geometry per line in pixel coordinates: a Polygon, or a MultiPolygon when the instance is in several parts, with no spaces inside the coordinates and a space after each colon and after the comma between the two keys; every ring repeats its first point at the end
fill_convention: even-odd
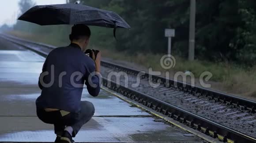
{"type": "Polygon", "coordinates": [[[74,25],[71,44],[49,53],[39,77],[42,91],[36,100],[37,115],[54,125],[55,143],[72,143],[72,137],[94,114],[94,105],[81,101],[84,83],[90,95],[96,97],[100,92],[101,54],[96,59],[84,54],[90,34],[88,26],[74,25]]]}

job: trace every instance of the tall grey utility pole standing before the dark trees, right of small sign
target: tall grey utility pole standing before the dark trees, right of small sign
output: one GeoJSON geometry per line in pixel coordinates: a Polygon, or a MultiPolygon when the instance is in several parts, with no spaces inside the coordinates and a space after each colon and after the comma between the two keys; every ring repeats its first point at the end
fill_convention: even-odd
{"type": "Polygon", "coordinates": [[[196,0],[190,0],[189,50],[188,60],[195,59],[196,0]]]}

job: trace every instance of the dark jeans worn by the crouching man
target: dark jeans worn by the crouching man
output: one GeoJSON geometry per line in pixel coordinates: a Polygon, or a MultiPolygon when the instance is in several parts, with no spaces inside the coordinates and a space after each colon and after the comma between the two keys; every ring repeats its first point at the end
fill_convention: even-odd
{"type": "Polygon", "coordinates": [[[42,122],[54,125],[56,135],[62,135],[65,126],[71,126],[73,128],[72,136],[75,137],[81,127],[94,115],[94,105],[88,101],[81,101],[79,113],[62,116],[60,111],[46,112],[44,109],[37,109],[37,115],[42,122]]]}

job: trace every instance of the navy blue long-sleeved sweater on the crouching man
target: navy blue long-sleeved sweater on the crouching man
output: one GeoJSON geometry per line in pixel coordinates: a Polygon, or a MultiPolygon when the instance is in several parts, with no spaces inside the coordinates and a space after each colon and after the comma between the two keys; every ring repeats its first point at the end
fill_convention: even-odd
{"type": "Polygon", "coordinates": [[[79,112],[84,84],[90,95],[96,97],[100,92],[98,75],[90,75],[94,71],[94,61],[77,44],[52,50],[39,77],[42,91],[36,100],[37,107],[79,112]]]}

